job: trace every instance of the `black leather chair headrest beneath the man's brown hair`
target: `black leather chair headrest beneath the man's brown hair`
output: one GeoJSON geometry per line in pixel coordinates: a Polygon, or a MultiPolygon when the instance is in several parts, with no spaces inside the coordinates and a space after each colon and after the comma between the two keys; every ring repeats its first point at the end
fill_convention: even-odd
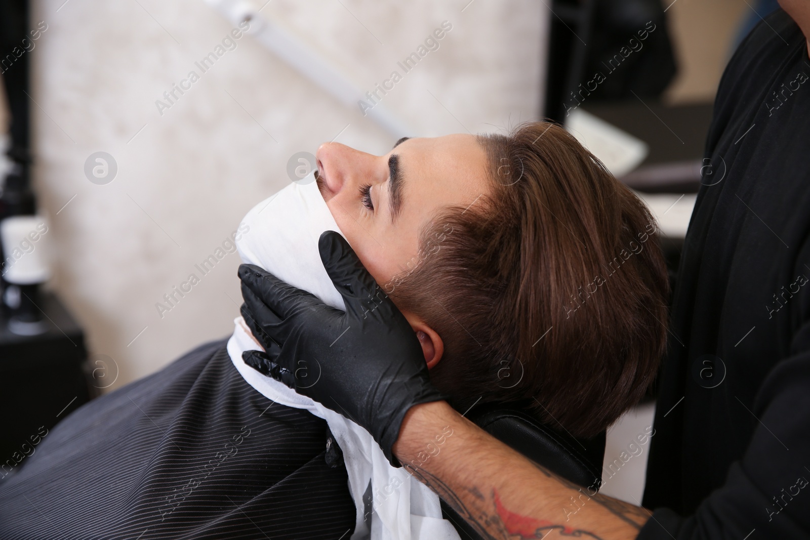
{"type": "MultiPolygon", "coordinates": [[[[582,487],[598,488],[602,483],[605,433],[593,439],[575,439],[557,425],[540,423],[518,406],[486,405],[467,413],[484,431],[555,474],[582,487]]],[[[508,464],[505,464],[508,466],[508,464]]],[[[462,540],[483,540],[467,521],[441,501],[441,513],[462,540]]]]}

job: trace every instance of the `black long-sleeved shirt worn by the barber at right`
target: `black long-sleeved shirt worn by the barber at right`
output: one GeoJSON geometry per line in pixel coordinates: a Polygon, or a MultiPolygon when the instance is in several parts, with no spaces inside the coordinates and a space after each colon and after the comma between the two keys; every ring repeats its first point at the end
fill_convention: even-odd
{"type": "Polygon", "coordinates": [[[638,538],[810,538],[810,59],[783,11],[731,58],[706,156],[638,538]]]}

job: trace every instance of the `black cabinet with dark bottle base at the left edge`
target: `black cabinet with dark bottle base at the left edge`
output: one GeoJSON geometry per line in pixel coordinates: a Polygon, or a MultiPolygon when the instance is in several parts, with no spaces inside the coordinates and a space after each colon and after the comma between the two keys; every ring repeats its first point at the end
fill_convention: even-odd
{"type": "Polygon", "coordinates": [[[36,336],[12,333],[0,316],[0,482],[36,452],[43,433],[92,397],[82,330],[56,296],[42,292],[39,308],[46,330],[36,336]]]}

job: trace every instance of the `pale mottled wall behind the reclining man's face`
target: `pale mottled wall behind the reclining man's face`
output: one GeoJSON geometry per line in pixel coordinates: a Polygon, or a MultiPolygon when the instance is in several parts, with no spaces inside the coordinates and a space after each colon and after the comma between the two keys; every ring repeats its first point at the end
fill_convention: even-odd
{"type": "MultiPolygon", "coordinates": [[[[369,89],[448,20],[453,29],[440,49],[386,105],[422,135],[535,119],[546,8],[468,1],[273,0],[262,15],[305,36],[369,89]]],[[[32,53],[32,96],[35,188],[53,234],[51,286],[83,323],[92,353],[116,361],[115,388],[230,334],[241,303],[236,253],[162,318],[156,303],[190,273],[199,276],[194,265],[287,184],[292,154],[336,136],[375,153],[394,141],[249,36],[161,115],[156,100],[232,29],[202,0],[34,3],[34,23],[48,24],[32,53]],[[109,184],[84,174],[96,151],[117,162],[109,184]]]]}

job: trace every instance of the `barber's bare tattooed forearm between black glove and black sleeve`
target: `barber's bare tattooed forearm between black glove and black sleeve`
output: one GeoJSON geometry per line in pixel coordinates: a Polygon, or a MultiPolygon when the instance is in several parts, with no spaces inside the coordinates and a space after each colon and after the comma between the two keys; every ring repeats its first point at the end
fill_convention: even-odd
{"type": "Polygon", "coordinates": [[[394,453],[484,538],[629,540],[650,517],[552,474],[446,402],[412,407],[394,453]]]}

